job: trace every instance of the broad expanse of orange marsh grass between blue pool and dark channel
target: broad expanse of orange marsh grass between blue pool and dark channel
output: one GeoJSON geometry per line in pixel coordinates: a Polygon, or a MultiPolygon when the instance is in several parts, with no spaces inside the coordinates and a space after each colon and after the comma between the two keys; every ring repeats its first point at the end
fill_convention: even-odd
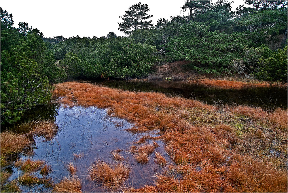
{"type": "MultiPolygon", "coordinates": [[[[134,123],[128,131],[159,131],[136,143],[162,140],[174,162],[155,184],[134,192],[287,192],[287,110],[264,111],[246,106],[213,106],[156,92],[130,92],[87,83],[55,85],[53,97],[72,107],[108,108],[111,116],[134,123]],[[75,102],[76,101],[76,102],[75,102]],[[170,168],[170,169],[169,169],[170,168]],[[180,177],[179,177],[180,175],[180,177]]],[[[147,163],[157,145],[130,147],[139,163],[147,163]]],[[[165,164],[155,153],[155,162],[165,164]]],[[[118,187],[129,176],[122,162],[96,161],[92,180],[118,187]]]]}

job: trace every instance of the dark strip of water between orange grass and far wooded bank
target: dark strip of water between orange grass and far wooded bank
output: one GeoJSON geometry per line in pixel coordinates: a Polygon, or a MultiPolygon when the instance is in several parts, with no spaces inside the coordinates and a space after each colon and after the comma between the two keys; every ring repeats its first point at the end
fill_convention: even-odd
{"type": "Polygon", "coordinates": [[[276,107],[287,109],[287,88],[271,86],[244,89],[222,89],[212,86],[203,86],[189,81],[177,80],[96,80],[88,82],[130,91],[162,92],[166,94],[166,96],[181,96],[184,98],[200,100],[211,105],[239,104],[262,107],[265,110],[271,110],[276,107]]]}

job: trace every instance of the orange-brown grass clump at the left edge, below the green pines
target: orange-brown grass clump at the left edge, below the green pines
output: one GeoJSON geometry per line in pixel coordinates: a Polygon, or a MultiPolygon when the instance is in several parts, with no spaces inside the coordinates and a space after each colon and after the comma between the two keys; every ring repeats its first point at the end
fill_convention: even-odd
{"type": "Polygon", "coordinates": [[[30,139],[24,135],[11,131],[1,133],[1,157],[22,152],[25,147],[29,147],[30,139]]]}

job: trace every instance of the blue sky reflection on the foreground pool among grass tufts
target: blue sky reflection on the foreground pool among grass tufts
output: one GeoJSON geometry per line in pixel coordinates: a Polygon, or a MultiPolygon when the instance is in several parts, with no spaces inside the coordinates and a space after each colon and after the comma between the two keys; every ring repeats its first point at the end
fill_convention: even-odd
{"type": "MultiPolygon", "coordinates": [[[[60,181],[63,176],[68,177],[70,174],[65,169],[65,164],[73,162],[77,167],[77,175],[82,179],[82,191],[84,192],[107,192],[111,190],[102,189],[99,184],[90,181],[87,174],[87,168],[96,159],[104,160],[108,163],[115,163],[110,152],[112,150],[122,149],[120,154],[125,158],[124,163],[128,164],[131,172],[126,185],[132,185],[134,188],[143,184],[153,183],[154,177],[161,172],[161,168],[154,163],[154,153],[151,154],[148,164],[141,165],[135,161],[129,150],[129,147],[135,145],[133,142],[140,139],[145,134],[132,135],[124,129],[130,128],[132,124],[126,120],[107,116],[105,109],[96,107],[84,108],[76,106],[72,108],[60,107],[58,116],[56,116],[56,124],[59,126],[57,135],[51,141],[45,141],[44,137],[34,137],[36,148],[33,160],[45,160],[46,164],[51,165],[53,172],[48,175],[54,183],[60,181]],[[83,153],[84,157],[74,159],[73,153],[83,153]]],[[[153,133],[150,133],[151,136],[153,133]]],[[[158,136],[158,135],[156,135],[158,136]]],[[[148,141],[152,143],[152,141],[148,141]]],[[[164,143],[156,141],[160,147],[156,151],[165,155],[164,143]]],[[[23,159],[28,157],[22,156],[23,159]]],[[[14,173],[10,179],[15,179],[21,175],[21,171],[13,168],[14,173]]],[[[35,173],[38,177],[39,171],[35,173]],[[37,174],[38,173],[38,174],[37,174]]],[[[24,192],[39,191],[36,187],[23,187],[24,192]]],[[[42,189],[40,191],[49,191],[42,189]]],[[[115,190],[114,190],[115,191],[115,190]]]]}

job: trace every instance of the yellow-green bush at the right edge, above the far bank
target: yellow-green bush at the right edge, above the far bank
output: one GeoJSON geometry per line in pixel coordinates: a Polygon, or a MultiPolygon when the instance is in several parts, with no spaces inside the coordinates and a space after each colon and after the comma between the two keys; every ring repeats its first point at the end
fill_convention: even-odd
{"type": "Polygon", "coordinates": [[[262,80],[287,82],[287,46],[273,52],[269,58],[259,59],[259,71],[254,75],[262,80]]]}

